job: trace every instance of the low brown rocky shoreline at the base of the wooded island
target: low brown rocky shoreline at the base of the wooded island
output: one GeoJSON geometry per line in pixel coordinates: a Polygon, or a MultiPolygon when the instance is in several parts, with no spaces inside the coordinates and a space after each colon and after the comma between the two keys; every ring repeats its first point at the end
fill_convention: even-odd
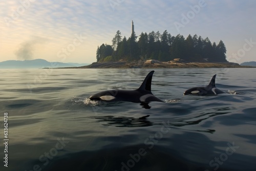
{"type": "Polygon", "coordinates": [[[89,66],[68,67],[74,69],[94,69],[94,68],[254,68],[249,66],[240,66],[232,62],[186,62],[186,61],[168,61],[158,60],[146,61],[118,61],[118,62],[94,62],[89,66]]]}

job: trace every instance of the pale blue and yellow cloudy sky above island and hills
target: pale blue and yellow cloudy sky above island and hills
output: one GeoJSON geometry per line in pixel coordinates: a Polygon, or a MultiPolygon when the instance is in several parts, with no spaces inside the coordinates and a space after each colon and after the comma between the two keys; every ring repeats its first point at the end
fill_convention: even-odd
{"type": "Polygon", "coordinates": [[[222,40],[230,62],[256,61],[255,0],[0,0],[0,9],[0,62],[92,63],[117,30],[131,36],[132,20],[137,36],[197,34],[222,40]]]}

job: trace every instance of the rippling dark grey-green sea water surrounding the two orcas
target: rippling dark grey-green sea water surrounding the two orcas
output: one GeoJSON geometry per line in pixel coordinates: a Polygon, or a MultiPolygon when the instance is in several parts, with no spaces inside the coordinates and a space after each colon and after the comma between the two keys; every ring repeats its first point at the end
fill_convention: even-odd
{"type": "Polygon", "coordinates": [[[0,170],[256,170],[256,69],[154,69],[150,109],[89,100],[152,70],[1,70],[0,170]],[[226,94],[183,96],[214,74],[226,94]]]}

